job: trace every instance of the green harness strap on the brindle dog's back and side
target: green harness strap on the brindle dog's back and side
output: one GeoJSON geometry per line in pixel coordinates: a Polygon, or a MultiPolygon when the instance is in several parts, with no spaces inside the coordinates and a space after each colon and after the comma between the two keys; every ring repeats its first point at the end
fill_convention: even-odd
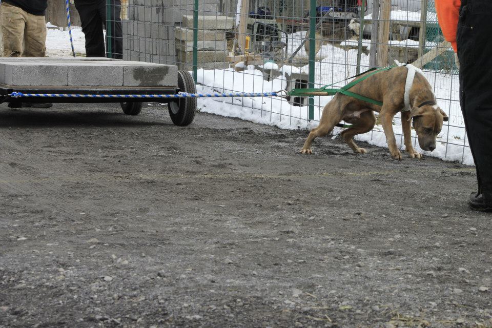
{"type": "Polygon", "coordinates": [[[395,66],[388,66],[388,67],[383,67],[383,68],[372,68],[370,70],[367,70],[367,71],[365,71],[363,73],[360,73],[358,75],[355,75],[354,77],[357,77],[359,75],[365,74],[367,72],[371,72],[371,71],[374,71],[374,72],[372,72],[371,74],[367,74],[366,76],[363,76],[363,77],[358,78],[356,80],[353,80],[351,83],[347,84],[346,86],[344,86],[342,88],[329,89],[328,87],[331,87],[332,85],[327,85],[327,86],[324,86],[324,87],[319,88],[319,89],[316,89],[316,88],[310,88],[310,89],[292,89],[291,91],[289,91],[289,95],[290,96],[295,96],[295,97],[303,97],[303,96],[312,96],[313,95],[312,93],[313,92],[316,92],[316,93],[324,93],[327,96],[333,96],[333,95],[335,95],[337,93],[341,93],[341,94],[344,94],[344,95],[349,96],[349,97],[352,97],[352,98],[356,98],[356,99],[359,99],[359,100],[362,100],[362,101],[366,101],[367,103],[370,103],[370,104],[375,104],[375,105],[378,105],[378,106],[382,106],[383,103],[381,101],[378,101],[378,100],[374,100],[374,99],[371,99],[371,98],[367,98],[367,97],[361,96],[360,94],[357,94],[357,93],[348,91],[348,89],[352,88],[356,84],[362,82],[366,78],[368,78],[368,77],[370,77],[370,76],[372,76],[372,75],[374,75],[376,73],[379,73],[379,72],[382,72],[382,71],[387,71],[387,70],[390,70],[390,69],[392,69],[394,67],[395,66]]]}

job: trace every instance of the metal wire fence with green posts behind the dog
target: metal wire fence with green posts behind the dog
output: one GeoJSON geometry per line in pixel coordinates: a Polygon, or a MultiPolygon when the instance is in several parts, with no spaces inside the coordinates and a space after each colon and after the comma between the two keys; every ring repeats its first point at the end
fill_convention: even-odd
{"type": "MultiPolygon", "coordinates": [[[[121,7],[116,11],[122,35],[108,34],[121,38],[122,57],[194,71],[198,92],[343,86],[374,66],[413,63],[423,69],[449,115],[432,155],[473,164],[459,107],[458,70],[437,24],[434,0],[108,0],[110,10],[115,6],[121,7]]],[[[318,124],[330,99],[233,97],[200,99],[198,106],[303,129],[318,124]]],[[[394,130],[403,147],[398,115],[394,130]]],[[[415,133],[413,138],[418,148],[415,133]]],[[[379,125],[358,139],[386,144],[379,125]]]]}

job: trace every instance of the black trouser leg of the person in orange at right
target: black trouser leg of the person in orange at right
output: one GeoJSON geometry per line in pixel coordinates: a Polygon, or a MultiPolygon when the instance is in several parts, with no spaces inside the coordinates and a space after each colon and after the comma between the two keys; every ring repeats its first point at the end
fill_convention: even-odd
{"type": "Polygon", "coordinates": [[[464,2],[457,44],[460,59],[460,103],[477,167],[479,191],[492,202],[492,2],[464,2]]]}

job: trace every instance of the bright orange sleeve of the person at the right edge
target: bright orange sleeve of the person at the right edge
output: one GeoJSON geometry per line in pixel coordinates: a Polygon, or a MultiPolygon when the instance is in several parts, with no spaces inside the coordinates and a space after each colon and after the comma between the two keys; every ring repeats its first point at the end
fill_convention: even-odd
{"type": "Polygon", "coordinates": [[[436,12],[442,34],[456,49],[456,31],[458,30],[458,17],[460,14],[461,0],[436,0],[436,12]]]}

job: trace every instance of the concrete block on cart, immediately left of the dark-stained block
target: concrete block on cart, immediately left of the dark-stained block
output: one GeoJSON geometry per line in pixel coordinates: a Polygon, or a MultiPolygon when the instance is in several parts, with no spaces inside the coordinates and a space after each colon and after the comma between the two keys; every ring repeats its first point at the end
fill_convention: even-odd
{"type": "MultiPolygon", "coordinates": [[[[120,63],[124,63],[121,61],[120,63]]],[[[122,86],[123,68],[103,63],[68,66],[68,86],[122,86]]]]}

